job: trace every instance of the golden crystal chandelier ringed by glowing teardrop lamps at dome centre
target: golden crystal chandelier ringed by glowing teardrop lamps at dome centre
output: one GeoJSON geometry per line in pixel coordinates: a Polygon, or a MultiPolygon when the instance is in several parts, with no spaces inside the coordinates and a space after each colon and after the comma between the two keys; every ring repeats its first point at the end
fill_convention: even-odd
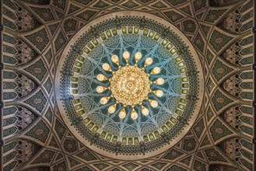
{"type": "Polygon", "coordinates": [[[160,98],[163,96],[163,91],[160,89],[152,90],[151,85],[163,85],[164,79],[157,78],[151,75],[158,75],[161,72],[160,67],[154,67],[150,72],[146,70],[146,67],[153,64],[152,58],[146,58],[144,65],[140,62],[141,65],[138,65],[138,62],[142,60],[142,53],[135,53],[135,64],[132,65],[129,63],[131,54],[128,51],[124,51],[123,58],[126,62],[126,65],[120,65],[120,59],[117,55],[112,55],[111,65],[117,65],[117,70],[114,70],[110,67],[110,64],[104,63],[102,68],[105,72],[111,72],[112,76],[110,79],[107,78],[107,75],[99,74],[97,75],[97,80],[100,82],[108,81],[110,82],[108,87],[97,86],[96,92],[103,93],[107,89],[110,90],[110,96],[103,96],[100,99],[102,105],[107,105],[110,103],[110,98],[114,99],[114,104],[110,104],[108,107],[108,113],[113,114],[119,112],[118,116],[121,119],[124,119],[129,111],[133,120],[136,120],[139,117],[138,113],[143,115],[149,114],[149,109],[146,107],[146,103],[149,103],[150,106],[156,108],[158,102],[156,97],[160,98]],[[153,81],[155,79],[155,81],[153,81]],[[153,99],[149,99],[149,93],[153,93],[153,99]],[[143,105],[144,104],[144,105],[143,105]],[[121,110],[117,110],[117,105],[121,105],[121,110]],[[131,108],[128,110],[126,108],[131,108]]]}

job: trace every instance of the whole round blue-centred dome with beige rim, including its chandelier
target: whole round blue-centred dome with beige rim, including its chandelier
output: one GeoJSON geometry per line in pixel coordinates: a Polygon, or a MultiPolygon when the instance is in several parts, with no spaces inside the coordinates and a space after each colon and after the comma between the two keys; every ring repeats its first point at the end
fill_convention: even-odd
{"type": "Polygon", "coordinates": [[[143,12],[117,12],[82,28],[62,54],[55,85],[72,133],[120,159],[175,145],[194,124],[204,92],[188,38],[143,12]]]}

